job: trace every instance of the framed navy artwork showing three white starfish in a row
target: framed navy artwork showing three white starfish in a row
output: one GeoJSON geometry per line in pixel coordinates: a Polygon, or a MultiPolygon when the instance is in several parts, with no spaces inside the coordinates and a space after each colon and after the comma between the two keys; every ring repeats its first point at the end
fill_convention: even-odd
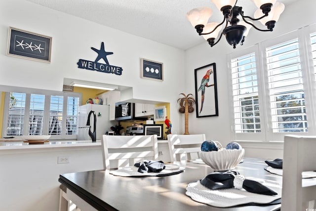
{"type": "Polygon", "coordinates": [[[51,37],[9,27],[7,55],[50,63],[51,37]]]}

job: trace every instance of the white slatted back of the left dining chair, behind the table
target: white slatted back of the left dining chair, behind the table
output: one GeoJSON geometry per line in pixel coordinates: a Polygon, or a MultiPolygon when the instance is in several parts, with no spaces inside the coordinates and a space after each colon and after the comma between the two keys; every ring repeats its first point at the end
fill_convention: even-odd
{"type": "Polygon", "coordinates": [[[133,166],[158,159],[157,135],[103,135],[104,169],[133,166]]]}

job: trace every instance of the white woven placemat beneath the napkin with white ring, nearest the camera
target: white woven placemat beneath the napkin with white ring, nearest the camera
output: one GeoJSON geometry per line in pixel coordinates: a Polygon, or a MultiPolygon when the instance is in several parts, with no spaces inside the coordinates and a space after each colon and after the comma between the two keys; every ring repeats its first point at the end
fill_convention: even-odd
{"type": "Polygon", "coordinates": [[[214,207],[227,208],[248,203],[268,204],[281,198],[281,186],[271,180],[255,179],[263,185],[276,191],[276,196],[268,196],[263,194],[250,193],[246,190],[236,188],[210,190],[199,181],[192,182],[187,186],[186,195],[194,201],[207,204],[214,207]]]}

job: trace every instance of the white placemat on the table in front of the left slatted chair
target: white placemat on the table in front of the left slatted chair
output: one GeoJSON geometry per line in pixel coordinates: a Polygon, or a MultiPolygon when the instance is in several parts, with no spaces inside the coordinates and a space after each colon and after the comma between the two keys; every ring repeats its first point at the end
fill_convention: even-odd
{"type": "Polygon", "coordinates": [[[122,169],[110,170],[110,173],[116,176],[167,176],[176,174],[178,172],[183,171],[184,167],[179,167],[174,164],[165,164],[165,169],[160,172],[148,172],[148,173],[140,173],[138,172],[138,167],[124,167],[122,169]]]}

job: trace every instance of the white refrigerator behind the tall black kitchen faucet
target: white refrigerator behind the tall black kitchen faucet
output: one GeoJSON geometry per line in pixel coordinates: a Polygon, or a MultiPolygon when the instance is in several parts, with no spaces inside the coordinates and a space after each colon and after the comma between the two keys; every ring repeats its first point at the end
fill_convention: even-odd
{"type": "Polygon", "coordinates": [[[89,127],[91,126],[91,132],[93,132],[93,115],[90,116],[90,126],[86,125],[90,111],[94,111],[96,114],[96,140],[102,140],[102,135],[107,131],[112,131],[111,127],[115,126],[115,124],[113,125],[109,120],[109,105],[85,104],[79,106],[77,140],[91,140],[89,127]]]}

